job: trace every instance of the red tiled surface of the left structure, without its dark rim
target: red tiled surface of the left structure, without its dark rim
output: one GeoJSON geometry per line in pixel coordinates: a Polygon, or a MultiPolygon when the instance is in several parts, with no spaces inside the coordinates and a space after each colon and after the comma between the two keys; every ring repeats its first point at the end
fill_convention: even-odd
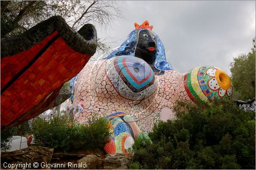
{"type": "MultiPolygon", "coordinates": [[[[57,32],[55,32],[55,35],[56,34],[57,32]]],[[[34,55],[39,52],[40,48],[55,35],[52,34],[41,43],[23,53],[8,57],[8,60],[6,60],[4,64],[1,64],[1,71],[10,70],[12,74],[9,74],[5,79],[1,79],[1,85],[7,84],[20,69],[24,68],[26,62],[24,62],[22,58],[26,59],[28,62],[31,61],[34,55]],[[19,57],[19,60],[17,60],[16,57],[19,57]],[[7,66],[7,62],[13,62],[14,64],[12,64],[10,68],[7,66]],[[17,66],[15,66],[15,64],[17,66]]],[[[36,62],[1,95],[3,98],[3,100],[1,100],[1,108],[4,108],[2,110],[2,124],[7,125],[15,118],[23,115],[37,105],[42,99],[45,99],[50,91],[62,86],[65,81],[73,78],[90,58],[72,50],[66,45],[62,38],[58,38],[51,46],[56,46],[56,48],[49,47],[46,53],[39,57],[36,62]],[[63,45],[65,45],[65,49],[63,45]],[[61,52],[56,52],[56,50],[61,50],[61,52]],[[53,55],[57,61],[53,60],[53,55]],[[72,57],[70,58],[70,56],[72,57]],[[76,64],[80,57],[86,57],[88,59],[76,64]],[[74,65],[78,68],[75,68],[74,65]],[[56,82],[56,80],[58,81],[56,82]],[[16,91],[14,90],[15,88],[16,91]],[[18,97],[13,97],[15,95],[18,97]],[[19,103],[12,105],[11,101],[18,101],[19,103]]],[[[3,62],[4,60],[1,59],[1,61],[3,62]]],[[[26,115],[25,117],[30,116],[31,115],[26,115]]]]}

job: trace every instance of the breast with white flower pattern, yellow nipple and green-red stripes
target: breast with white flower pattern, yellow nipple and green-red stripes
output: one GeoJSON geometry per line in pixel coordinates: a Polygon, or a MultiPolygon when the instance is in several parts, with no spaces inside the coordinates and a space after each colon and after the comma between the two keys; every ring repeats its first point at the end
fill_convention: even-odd
{"type": "Polygon", "coordinates": [[[228,99],[232,94],[232,83],[225,71],[213,67],[195,67],[184,77],[184,86],[192,101],[206,102],[208,99],[228,99]]]}

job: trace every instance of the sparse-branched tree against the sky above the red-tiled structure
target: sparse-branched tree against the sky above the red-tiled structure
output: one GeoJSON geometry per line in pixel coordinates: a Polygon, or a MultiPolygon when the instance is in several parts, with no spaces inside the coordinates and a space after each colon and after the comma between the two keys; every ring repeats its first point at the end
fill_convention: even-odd
{"type": "MultiPolygon", "coordinates": [[[[116,1],[1,1],[1,38],[18,35],[55,15],[65,18],[75,31],[84,23],[108,26],[121,17],[116,1]]],[[[99,49],[109,46],[101,42],[99,49]]]]}

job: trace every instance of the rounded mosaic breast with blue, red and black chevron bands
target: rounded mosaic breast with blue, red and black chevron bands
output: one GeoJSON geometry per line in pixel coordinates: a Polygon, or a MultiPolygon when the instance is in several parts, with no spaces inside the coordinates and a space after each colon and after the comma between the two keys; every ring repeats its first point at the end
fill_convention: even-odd
{"type": "Polygon", "coordinates": [[[142,100],[157,89],[155,74],[150,65],[134,56],[118,56],[108,61],[106,76],[125,99],[142,100]]]}

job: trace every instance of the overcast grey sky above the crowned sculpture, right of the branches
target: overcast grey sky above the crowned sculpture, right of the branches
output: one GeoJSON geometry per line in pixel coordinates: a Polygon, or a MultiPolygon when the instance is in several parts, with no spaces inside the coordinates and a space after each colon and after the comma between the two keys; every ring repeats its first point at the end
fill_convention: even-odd
{"type": "Polygon", "coordinates": [[[255,36],[255,1],[124,1],[121,7],[123,18],[96,28],[98,37],[118,47],[134,22],[148,20],[167,61],[180,72],[212,65],[230,75],[230,62],[250,52],[255,36]]]}

